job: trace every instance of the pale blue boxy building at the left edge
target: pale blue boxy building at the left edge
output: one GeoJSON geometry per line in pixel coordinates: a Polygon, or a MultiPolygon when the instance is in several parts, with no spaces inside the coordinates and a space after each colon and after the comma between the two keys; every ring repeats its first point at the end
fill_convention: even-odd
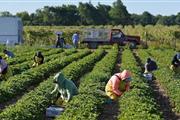
{"type": "Polygon", "coordinates": [[[23,25],[18,17],[0,17],[0,44],[21,44],[23,25]]]}

